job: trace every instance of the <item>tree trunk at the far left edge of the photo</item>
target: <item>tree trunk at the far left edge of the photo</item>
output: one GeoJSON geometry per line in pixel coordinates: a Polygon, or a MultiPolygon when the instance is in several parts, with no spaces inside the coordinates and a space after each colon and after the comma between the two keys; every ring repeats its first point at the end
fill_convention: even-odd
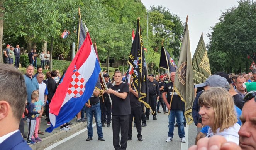
{"type": "Polygon", "coordinates": [[[5,8],[3,7],[3,2],[5,2],[5,0],[0,0],[0,63],[3,63],[3,17],[5,11],[5,8]]]}

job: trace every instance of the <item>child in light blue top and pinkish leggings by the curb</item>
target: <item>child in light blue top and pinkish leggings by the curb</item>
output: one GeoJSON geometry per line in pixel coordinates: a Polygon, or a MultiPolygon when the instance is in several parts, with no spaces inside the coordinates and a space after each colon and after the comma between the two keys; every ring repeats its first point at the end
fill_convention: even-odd
{"type": "MultiPolygon", "coordinates": [[[[38,93],[38,95],[39,95],[39,93],[38,93]]],[[[40,112],[40,111],[44,112],[44,102],[42,100],[36,101],[35,107],[36,107],[37,112],[40,112]]],[[[34,137],[34,135],[32,135],[32,139],[31,139],[33,142],[37,142],[37,141],[41,142],[42,141],[42,139],[38,137],[38,129],[40,128],[39,125],[40,125],[41,117],[42,117],[42,113],[36,114],[35,137],[34,137]]]]}

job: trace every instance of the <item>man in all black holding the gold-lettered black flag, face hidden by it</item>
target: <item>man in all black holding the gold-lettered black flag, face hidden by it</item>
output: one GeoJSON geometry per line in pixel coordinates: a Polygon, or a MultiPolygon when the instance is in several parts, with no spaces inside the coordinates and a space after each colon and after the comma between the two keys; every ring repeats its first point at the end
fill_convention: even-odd
{"type": "MultiPolygon", "coordinates": [[[[132,80],[132,78],[131,78],[132,80]]],[[[132,140],[132,120],[136,121],[136,129],[137,129],[137,138],[139,141],[143,141],[141,135],[141,102],[138,100],[138,93],[133,85],[129,87],[130,93],[130,105],[131,105],[131,115],[129,121],[129,131],[128,131],[128,140],[132,140]]]]}

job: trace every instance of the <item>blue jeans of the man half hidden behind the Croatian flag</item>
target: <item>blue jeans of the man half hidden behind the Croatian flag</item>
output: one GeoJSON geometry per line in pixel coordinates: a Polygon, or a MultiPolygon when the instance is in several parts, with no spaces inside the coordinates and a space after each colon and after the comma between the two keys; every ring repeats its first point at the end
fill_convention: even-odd
{"type": "Polygon", "coordinates": [[[90,108],[86,107],[88,137],[92,137],[92,115],[93,114],[96,122],[98,137],[99,138],[103,137],[102,126],[101,126],[100,103],[97,103],[96,105],[91,105],[90,108]]]}

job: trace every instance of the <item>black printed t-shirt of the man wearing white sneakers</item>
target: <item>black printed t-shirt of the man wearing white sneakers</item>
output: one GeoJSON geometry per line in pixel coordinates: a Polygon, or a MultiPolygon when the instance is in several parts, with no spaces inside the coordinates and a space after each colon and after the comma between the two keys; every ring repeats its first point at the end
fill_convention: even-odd
{"type": "Polygon", "coordinates": [[[167,92],[167,101],[171,102],[172,110],[185,110],[185,103],[181,100],[178,93],[173,91],[173,82],[169,82],[164,86],[163,92],[167,92]],[[173,93],[173,100],[171,101],[171,95],[173,93]]]}

